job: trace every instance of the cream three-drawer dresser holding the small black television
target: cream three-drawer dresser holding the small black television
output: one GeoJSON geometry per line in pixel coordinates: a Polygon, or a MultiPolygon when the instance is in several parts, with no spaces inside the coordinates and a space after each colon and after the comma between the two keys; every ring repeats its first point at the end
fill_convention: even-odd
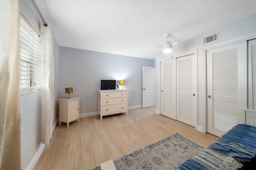
{"type": "Polygon", "coordinates": [[[102,116],[117,113],[128,114],[127,89],[121,90],[98,90],[98,113],[102,116]]]}

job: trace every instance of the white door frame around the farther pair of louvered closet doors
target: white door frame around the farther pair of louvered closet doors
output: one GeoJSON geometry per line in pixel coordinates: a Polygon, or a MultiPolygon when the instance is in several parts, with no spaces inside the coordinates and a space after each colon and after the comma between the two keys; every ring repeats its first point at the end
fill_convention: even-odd
{"type": "MultiPolygon", "coordinates": [[[[196,64],[197,64],[197,69],[196,69],[196,75],[198,75],[198,55],[197,55],[197,49],[195,49],[195,50],[191,50],[191,51],[186,51],[186,52],[184,52],[184,53],[180,53],[180,54],[177,54],[177,55],[174,55],[174,56],[172,56],[172,57],[166,57],[166,58],[163,58],[163,59],[160,59],[160,62],[159,62],[159,68],[160,68],[160,71],[159,71],[159,73],[158,73],[158,75],[159,75],[159,91],[158,91],[158,103],[159,103],[159,114],[161,115],[161,62],[162,61],[166,61],[166,60],[169,60],[169,59],[172,59],[172,58],[178,58],[178,57],[184,57],[184,56],[186,56],[186,55],[192,55],[192,54],[194,54],[195,56],[196,56],[196,64]]],[[[196,87],[196,108],[195,108],[195,117],[196,117],[196,119],[195,119],[195,129],[196,130],[198,130],[198,76],[196,76],[196,82],[197,82],[197,87],[196,87]]]]}

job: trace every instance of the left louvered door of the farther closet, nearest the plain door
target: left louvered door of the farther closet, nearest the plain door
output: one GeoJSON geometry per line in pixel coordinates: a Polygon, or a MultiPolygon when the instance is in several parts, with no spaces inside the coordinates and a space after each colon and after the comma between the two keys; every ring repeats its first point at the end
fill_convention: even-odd
{"type": "Polygon", "coordinates": [[[176,59],[161,62],[161,114],[176,120],[176,59]]]}

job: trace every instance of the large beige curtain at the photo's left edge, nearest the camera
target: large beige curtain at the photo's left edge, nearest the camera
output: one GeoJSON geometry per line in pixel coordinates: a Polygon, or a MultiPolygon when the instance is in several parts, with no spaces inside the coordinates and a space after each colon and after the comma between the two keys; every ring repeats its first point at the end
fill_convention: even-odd
{"type": "Polygon", "coordinates": [[[0,169],[20,163],[20,1],[0,0],[0,169]]]}

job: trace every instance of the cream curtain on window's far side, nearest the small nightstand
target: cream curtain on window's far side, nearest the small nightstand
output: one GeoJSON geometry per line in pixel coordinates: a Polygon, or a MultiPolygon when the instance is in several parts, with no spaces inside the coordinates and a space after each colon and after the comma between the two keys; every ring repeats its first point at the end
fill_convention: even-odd
{"type": "Polygon", "coordinates": [[[53,113],[54,113],[54,41],[52,25],[40,25],[41,31],[41,106],[42,106],[42,142],[49,145],[52,137],[53,113]]]}

